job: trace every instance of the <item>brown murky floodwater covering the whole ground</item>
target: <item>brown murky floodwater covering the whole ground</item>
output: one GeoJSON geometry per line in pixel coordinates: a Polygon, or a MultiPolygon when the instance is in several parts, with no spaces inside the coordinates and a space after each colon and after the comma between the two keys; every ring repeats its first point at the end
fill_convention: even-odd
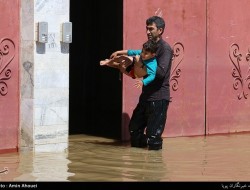
{"type": "Polygon", "coordinates": [[[163,149],[72,135],[65,153],[0,154],[0,181],[250,181],[250,134],[165,138],[163,149]]]}

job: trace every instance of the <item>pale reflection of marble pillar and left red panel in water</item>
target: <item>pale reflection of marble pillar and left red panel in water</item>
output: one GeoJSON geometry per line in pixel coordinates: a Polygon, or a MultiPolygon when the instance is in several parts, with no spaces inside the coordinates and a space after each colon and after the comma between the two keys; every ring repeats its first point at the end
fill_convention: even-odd
{"type": "Polygon", "coordinates": [[[68,181],[67,153],[8,153],[0,155],[0,181],[68,181]]]}

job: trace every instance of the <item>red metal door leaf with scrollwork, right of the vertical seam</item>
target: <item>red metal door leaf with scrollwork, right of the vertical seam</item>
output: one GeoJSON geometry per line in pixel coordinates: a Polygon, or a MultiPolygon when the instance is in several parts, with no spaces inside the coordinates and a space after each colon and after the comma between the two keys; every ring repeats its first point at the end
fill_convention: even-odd
{"type": "Polygon", "coordinates": [[[206,132],[250,131],[250,1],[207,6],[206,132]]]}

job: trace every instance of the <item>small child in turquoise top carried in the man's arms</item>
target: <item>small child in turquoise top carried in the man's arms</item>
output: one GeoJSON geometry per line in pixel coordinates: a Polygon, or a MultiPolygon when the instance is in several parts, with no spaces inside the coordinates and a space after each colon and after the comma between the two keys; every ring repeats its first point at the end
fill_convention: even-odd
{"type": "Polygon", "coordinates": [[[148,85],[155,78],[157,68],[157,61],[155,58],[156,51],[156,42],[148,40],[143,44],[142,50],[117,51],[113,58],[100,61],[100,65],[119,68],[120,64],[129,64],[126,68],[125,74],[132,78],[143,77],[143,80],[137,80],[137,83],[135,84],[135,86],[139,88],[142,87],[142,85],[148,85]],[[140,68],[142,69],[140,70],[140,68]],[[139,71],[140,73],[138,73],[139,71]]]}

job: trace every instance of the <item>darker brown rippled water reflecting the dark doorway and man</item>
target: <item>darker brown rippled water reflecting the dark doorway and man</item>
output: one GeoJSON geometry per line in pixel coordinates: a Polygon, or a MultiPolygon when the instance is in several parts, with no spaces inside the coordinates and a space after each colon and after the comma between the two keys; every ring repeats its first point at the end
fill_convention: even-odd
{"type": "Polygon", "coordinates": [[[130,148],[93,137],[84,141],[76,138],[71,143],[77,146],[69,149],[69,171],[75,173],[69,177],[70,181],[160,181],[164,178],[162,151],[130,148]]]}

